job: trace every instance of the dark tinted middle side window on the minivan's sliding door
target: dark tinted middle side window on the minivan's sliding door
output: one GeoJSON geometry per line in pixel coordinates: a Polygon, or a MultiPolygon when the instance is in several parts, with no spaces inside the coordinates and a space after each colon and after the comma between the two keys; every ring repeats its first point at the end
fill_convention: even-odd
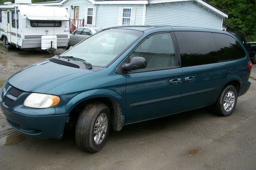
{"type": "Polygon", "coordinates": [[[216,47],[211,33],[175,32],[183,67],[218,62],[216,47]]]}

